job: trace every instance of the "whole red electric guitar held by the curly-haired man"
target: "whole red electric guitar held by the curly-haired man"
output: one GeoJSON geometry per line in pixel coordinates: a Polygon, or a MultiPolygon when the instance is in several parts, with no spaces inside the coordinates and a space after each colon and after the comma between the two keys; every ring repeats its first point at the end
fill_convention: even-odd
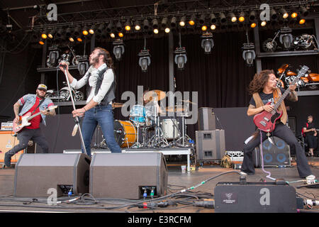
{"type": "MultiPolygon", "coordinates": [[[[308,71],[308,69],[309,68],[306,65],[303,65],[303,67],[301,67],[301,70],[299,70],[298,75],[296,76],[295,79],[293,79],[293,82],[291,82],[291,84],[296,84],[296,82],[298,82],[298,79],[301,76],[303,76],[303,74],[305,74],[308,71]]],[[[276,121],[279,118],[281,118],[281,116],[283,114],[282,111],[277,111],[277,109],[281,105],[281,102],[284,101],[286,96],[289,94],[289,92],[291,92],[291,90],[288,88],[288,89],[286,89],[284,94],[282,94],[280,96],[280,98],[278,99],[278,101],[274,105],[274,109],[272,112],[269,113],[267,111],[262,111],[261,113],[256,114],[254,116],[254,124],[257,126],[257,128],[259,128],[259,130],[267,132],[267,133],[274,131],[274,128],[276,127],[275,126],[276,121]]],[[[269,103],[267,103],[267,104],[269,104],[269,103]]]]}

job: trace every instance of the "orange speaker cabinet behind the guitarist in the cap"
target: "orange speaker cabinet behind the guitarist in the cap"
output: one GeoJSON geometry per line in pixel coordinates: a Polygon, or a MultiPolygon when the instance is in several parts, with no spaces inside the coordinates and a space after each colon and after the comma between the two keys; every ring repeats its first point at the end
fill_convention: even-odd
{"type": "MultiPolygon", "coordinates": [[[[4,162],[4,154],[19,143],[18,138],[13,135],[13,131],[0,131],[0,162],[4,162]]],[[[11,163],[18,162],[18,159],[22,153],[23,150],[16,153],[16,155],[13,155],[11,157],[11,163]]]]}

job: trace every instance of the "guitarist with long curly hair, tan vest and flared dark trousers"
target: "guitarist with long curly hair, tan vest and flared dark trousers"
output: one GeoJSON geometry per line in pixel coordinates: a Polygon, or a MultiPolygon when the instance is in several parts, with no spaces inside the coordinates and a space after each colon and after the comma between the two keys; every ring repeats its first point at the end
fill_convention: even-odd
{"type": "MultiPolygon", "coordinates": [[[[296,85],[291,84],[289,89],[291,89],[291,93],[289,96],[286,96],[286,99],[298,101],[298,95],[295,92],[296,85]]],[[[262,111],[272,112],[274,109],[274,100],[276,101],[277,97],[279,98],[279,96],[281,96],[281,93],[284,92],[284,89],[276,87],[276,76],[273,70],[263,70],[254,75],[254,78],[249,85],[249,92],[252,94],[252,99],[250,99],[247,115],[254,116],[262,111]],[[270,104],[268,104],[269,102],[270,104]]],[[[281,103],[281,106],[278,110],[283,111],[283,115],[281,116],[280,121],[279,119],[276,121],[276,127],[274,128],[274,131],[272,131],[272,135],[281,138],[289,144],[291,149],[296,150],[297,170],[299,177],[315,179],[315,176],[312,174],[308,165],[308,160],[303,152],[303,148],[301,148],[301,145],[296,140],[296,137],[293,135],[291,129],[286,126],[287,113],[284,101],[281,103]]],[[[269,137],[269,134],[267,134],[268,133],[262,131],[262,140],[266,140],[267,137],[269,137]]],[[[254,137],[244,145],[244,160],[242,162],[241,168],[242,175],[254,175],[252,152],[260,143],[260,132],[258,130],[254,134],[254,137]]]]}

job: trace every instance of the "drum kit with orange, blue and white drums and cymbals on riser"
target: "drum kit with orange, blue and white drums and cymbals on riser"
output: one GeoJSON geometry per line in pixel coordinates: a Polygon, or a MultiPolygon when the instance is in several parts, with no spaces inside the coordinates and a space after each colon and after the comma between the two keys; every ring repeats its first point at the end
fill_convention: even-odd
{"type": "MultiPolygon", "coordinates": [[[[189,116],[191,101],[181,100],[184,105],[161,109],[158,101],[165,92],[152,90],[144,94],[144,106],[137,104],[130,109],[129,121],[114,121],[114,137],[121,148],[174,148],[194,146],[186,134],[186,117],[189,116]],[[164,114],[167,118],[160,118],[164,114]],[[181,120],[181,130],[179,121],[181,120]]],[[[113,109],[124,104],[113,103],[113,109]]],[[[99,131],[99,129],[98,129],[99,131]]],[[[103,137],[103,135],[102,135],[103,137]]],[[[95,143],[96,145],[96,143],[95,143]]],[[[98,148],[107,148],[103,139],[98,148]]]]}

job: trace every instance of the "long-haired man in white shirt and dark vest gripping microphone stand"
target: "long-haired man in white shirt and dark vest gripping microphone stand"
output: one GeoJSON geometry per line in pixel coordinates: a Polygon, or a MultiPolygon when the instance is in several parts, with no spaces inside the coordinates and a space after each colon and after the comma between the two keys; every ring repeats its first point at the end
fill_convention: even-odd
{"type": "MultiPolygon", "coordinates": [[[[112,101],[115,99],[116,74],[110,53],[103,48],[95,48],[89,56],[89,70],[79,79],[69,73],[66,62],[60,63],[60,70],[67,72],[70,86],[79,89],[87,86],[86,105],[72,111],[73,116],[84,116],[82,135],[87,155],[91,156],[91,140],[96,126],[101,126],[106,144],[111,153],[121,153],[121,148],[114,138],[112,101]]],[[[84,150],[82,149],[82,153],[84,150]]]]}

